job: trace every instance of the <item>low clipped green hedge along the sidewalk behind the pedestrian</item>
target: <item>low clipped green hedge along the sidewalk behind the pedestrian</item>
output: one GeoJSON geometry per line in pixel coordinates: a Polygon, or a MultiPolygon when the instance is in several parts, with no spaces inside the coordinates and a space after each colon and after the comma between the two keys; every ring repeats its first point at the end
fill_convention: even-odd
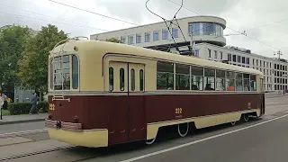
{"type": "MultiPolygon", "coordinates": [[[[48,112],[48,102],[39,102],[37,112],[48,112]]],[[[12,115],[28,114],[31,109],[31,103],[8,103],[8,110],[12,115]]]]}

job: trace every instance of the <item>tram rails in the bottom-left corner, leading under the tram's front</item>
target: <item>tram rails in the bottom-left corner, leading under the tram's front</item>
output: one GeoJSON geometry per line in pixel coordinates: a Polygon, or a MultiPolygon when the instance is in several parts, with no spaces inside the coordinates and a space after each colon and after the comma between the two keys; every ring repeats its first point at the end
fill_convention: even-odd
{"type": "Polygon", "coordinates": [[[60,150],[64,150],[64,149],[71,149],[71,148],[78,148],[78,146],[50,148],[50,149],[35,151],[35,152],[26,153],[26,154],[22,154],[22,155],[0,158],[0,161],[6,161],[6,160],[22,158],[22,157],[31,157],[31,156],[35,156],[35,155],[46,154],[49,152],[55,152],[55,151],[60,151],[60,150]]]}

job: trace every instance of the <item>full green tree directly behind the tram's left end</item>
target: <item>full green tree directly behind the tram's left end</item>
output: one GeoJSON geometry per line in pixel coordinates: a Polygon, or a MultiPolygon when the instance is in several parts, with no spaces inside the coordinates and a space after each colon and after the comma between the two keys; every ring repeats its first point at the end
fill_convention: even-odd
{"type": "Polygon", "coordinates": [[[58,31],[56,26],[49,24],[27,41],[23,57],[18,61],[18,76],[23,84],[40,94],[47,92],[49,50],[60,40],[66,39],[67,34],[64,31],[58,31]]]}

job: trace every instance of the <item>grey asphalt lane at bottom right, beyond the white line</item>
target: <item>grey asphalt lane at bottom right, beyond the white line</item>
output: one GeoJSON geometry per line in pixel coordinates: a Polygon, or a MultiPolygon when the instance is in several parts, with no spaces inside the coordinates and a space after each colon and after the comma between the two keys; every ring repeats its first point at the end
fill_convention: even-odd
{"type": "Polygon", "coordinates": [[[135,161],[283,162],[288,159],[287,136],[288,117],[285,117],[183,148],[164,149],[163,153],[150,157],[144,155],[135,161]]]}

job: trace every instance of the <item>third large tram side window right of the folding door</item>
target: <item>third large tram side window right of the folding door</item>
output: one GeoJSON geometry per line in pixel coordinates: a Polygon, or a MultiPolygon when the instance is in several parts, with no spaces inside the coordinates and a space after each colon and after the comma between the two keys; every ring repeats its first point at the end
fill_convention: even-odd
{"type": "Polygon", "coordinates": [[[203,67],[191,66],[191,89],[203,90],[203,67]]]}

